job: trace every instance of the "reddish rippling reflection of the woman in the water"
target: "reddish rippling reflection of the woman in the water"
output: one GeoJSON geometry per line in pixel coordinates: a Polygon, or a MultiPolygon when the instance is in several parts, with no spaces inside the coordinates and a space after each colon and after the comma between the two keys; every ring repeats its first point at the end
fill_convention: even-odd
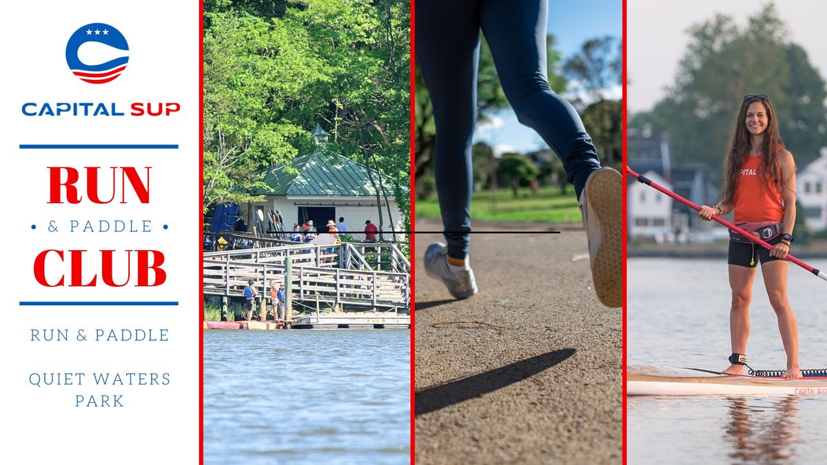
{"type": "Polygon", "coordinates": [[[733,463],[792,463],[796,459],[799,397],[788,395],[768,400],[728,397],[729,425],[724,429],[733,443],[733,463]],[[752,405],[750,404],[752,402],[752,405]]]}

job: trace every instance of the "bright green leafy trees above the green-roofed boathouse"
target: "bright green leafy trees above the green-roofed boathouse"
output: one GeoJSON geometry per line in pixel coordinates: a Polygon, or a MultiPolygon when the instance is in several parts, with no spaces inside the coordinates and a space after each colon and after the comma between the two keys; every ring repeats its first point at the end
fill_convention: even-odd
{"type": "Polygon", "coordinates": [[[256,173],[312,150],[321,122],[330,150],[379,170],[380,192],[407,215],[409,4],[212,0],[205,9],[204,204],[249,200],[256,173]]]}

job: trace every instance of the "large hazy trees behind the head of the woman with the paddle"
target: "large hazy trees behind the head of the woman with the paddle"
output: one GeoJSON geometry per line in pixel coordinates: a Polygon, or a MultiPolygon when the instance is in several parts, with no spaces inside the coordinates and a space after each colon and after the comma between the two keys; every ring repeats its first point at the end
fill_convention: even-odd
{"type": "Polygon", "coordinates": [[[717,15],[693,26],[675,84],[652,111],[629,121],[666,132],[679,162],[721,165],[746,94],[764,93],[777,110],[782,137],[799,165],[818,156],[827,132],[825,81],[800,46],[788,40],[772,4],[739,27],[717,15]]]}

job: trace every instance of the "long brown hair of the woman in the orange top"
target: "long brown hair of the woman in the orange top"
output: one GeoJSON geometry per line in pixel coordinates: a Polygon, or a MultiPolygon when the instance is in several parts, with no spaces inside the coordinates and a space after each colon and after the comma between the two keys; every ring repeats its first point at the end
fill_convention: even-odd
{"type": "Polygon", "coordinates": [[[724,159],[724,203],[731,204],[735,195],[735,184],[744,162],[747,161],[749,151],[752,150],[752,139],[747,131],[747,108],[751,103],[761,103],[767,111],[767,128],[764,129],[764,141],[761,144],[761,153],[764,156],[762,171],[767,184],[774,185],[781,192],[781,168],[778,164],[778,154],[785,150],[784,141],[778,132],[778,122],[775,117],[775,108],[766,96],[744,98],[738,119],[735,120],[735,131],[729,141],[729,149],[724,159]]]}

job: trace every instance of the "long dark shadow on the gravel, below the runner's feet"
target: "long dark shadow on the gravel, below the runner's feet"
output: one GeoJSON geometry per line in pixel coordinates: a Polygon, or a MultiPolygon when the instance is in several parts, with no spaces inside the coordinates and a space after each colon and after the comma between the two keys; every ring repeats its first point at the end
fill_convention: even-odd
{"type": "Polygon", "coordinates": [[[416,415],[427,414],[447,406],[458,404],[463,400],[488,394],[509,384],[523,381],[528,376],[536,375],[547,368],[554,367],[571,357],[576,349],[566,348],[543,353],[536,357],[514,362],[490,372],[469,376],[446,384],[426,387],[416,392],[416,415]]]}

